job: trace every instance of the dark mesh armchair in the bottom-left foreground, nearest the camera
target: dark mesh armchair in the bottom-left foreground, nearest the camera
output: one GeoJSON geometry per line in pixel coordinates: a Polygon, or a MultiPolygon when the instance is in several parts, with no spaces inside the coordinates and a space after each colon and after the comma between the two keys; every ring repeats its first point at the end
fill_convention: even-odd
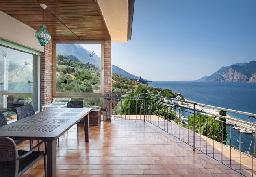
{"type": "MultiPolygon", "coordinates": [[[[44,151],[34,151],[37,146],[45,143],[41,141],[30,151],[17,150],[15,142],[9,137],[0,137],[0,177],[19,177],[41,157],[44,157],[45,176],[46,154],[44,151]]],[[[46,149],[46,148],[45,148],[46,149]]]]}

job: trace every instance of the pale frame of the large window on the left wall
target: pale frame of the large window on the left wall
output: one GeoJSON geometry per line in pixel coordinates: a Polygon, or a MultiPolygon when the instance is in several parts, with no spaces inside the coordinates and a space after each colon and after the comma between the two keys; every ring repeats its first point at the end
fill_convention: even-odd
{"type": "MultiPolygon", "coordinates": [[[[39,113],[41,111],[41,52],[37,50],[33,50],[30,48],[26,48],[24,46],[21,46],[19,44],[15,44],[13,42],[5,41],[3,39],[0,39],[0,45],[11,48],[13,50],[18,50],[20,52],[29,53],[32,55],[37,55],[37,111],[35,113],[39,113]]],[[[6,90],[5,90],[6,91],[6,90]]],[[[5,95],[15,95],[15,94],[28,94],[28,93],[22,93],[24,90],[8,90],[9,92],[6,92],[5,95]],[[20,92],[19,92],[20,91],[20,92]]],[[[4,100],[2,100],[4,103],[4,100]]],[[[7,122],[7,124],[14,122],[15,120],[10,120],[7,122]]]]}

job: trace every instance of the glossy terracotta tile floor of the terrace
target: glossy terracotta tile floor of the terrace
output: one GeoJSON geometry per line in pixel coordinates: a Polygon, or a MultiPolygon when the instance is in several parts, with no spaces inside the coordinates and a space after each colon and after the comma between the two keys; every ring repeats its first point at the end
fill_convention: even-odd
{"type": "MultiPolygon", "coordinates": [[[[68,135],[61,136],[60,144],[56,147],[57,176],[241,176],[208,155],[198,150],[193,151],[191,146],[143,120],[113,120],[102,122],[99,126],[90,126],[89,143],[85,143],[82,126],[79,132],[79,145],[76,142],[76,125],[69,130],[68,135]]],[[[186,138],[186,133],[184,135],[186,138]]],[[[183,137],[183,133],[180,136],[183,137]]],[[[188,137],[192,138],[191,135],[188,137]]],[[[209,140],[207,143],[210,146],[209,140]]],[[[19,149],[28,149],[28,142],[21,144],[19,149]]],[[[41,177],[43,174],[43,160],[40,160],[22,177],[41,177]]]]}

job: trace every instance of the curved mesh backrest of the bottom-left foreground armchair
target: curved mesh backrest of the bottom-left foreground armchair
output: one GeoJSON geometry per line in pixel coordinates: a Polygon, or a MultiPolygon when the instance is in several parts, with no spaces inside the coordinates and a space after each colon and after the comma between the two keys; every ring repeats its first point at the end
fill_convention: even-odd
{"type": "Polygon", "coordinates": [[[19,161],[15,142],[9,137],[0,137],[0,149],[0,177],[17,177],[19,161]]]}

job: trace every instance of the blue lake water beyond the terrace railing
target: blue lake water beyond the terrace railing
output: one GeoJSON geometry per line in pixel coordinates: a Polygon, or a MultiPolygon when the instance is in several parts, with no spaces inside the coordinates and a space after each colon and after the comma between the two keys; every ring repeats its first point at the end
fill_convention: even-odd
{"type": "MultiPolygon", "coordinates": [[[[180,92],[185,98],[198,103],[256,114],[256,83],[154,81],[149,85],[180,92]]],[[[248,116],[234,113],[230,115],[248,121],[248,116]]],[[[229,142],[230,126],[226,128],[229,130],[229,142]]],[[[236,149],[239,149],[238,134],[239,131],[232,129],[232,145],[236,149]]],[[[242,151],[249,150],[251,136],[242,133],[242,151]]]]}

